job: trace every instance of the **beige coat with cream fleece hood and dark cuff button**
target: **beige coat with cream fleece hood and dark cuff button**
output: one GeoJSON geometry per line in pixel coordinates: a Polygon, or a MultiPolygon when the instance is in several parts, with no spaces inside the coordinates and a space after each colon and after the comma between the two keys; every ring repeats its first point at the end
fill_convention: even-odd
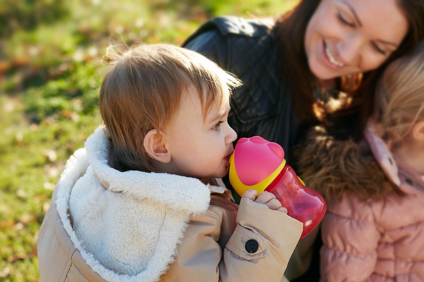
{"type": "MultiPolygon", "coordinates": [[[[173,197],[164,196],[165,200],[158,198],[155,202],[153,199],[158,196],[157,193],[153,197],[149,194],[140,194],[139,189],[135,190],[137,192],[128,189],[130,186],[128,181],[131,179],[136,182],[135,188],[140,185],[140,179],[133,178],[134,175],[126,174],[125,180],[117,181],[116,178],[120,177],[119,173],[124,172],[99,170],[105,162],[101,160],[96,164],[92,155],[106,155],[102,153],[102,150],[106,148],[102,147],[105,144],[104,135],[97,131],[97,137],[91,138],[91,141],[89,138],[86,148],[77,151],[68,161],[40,229],[38,255],[41,281],[284,280],[283,273],[287,262],[302,231],[300,222],[286,214],[271,211],[265,205],[254,203],[247,198],[243,198],[240,206],[237,206],[233,203],[231,193],[227,189],[209,184],[202,184],[208,189],[208,194],[211,193],[207,198],[206,206],[202,203],[203,196],[192,202],[190,210],[187,208],[184,211],[178,210],[179,203],[172,203],[173,197]],[[91,183],[91,186],[81,186],[81,183],[91,183]],[[119,183],[127,184],[125,187],[119,187],[119,183]],[[81,195],[78,194],[78,189],[81,187],[85,187],[87,191],[91,191],[90,193],[95,191],[100,194],[90,197],[92,194],[88,193],[86,197],[78,198],[76,196],[81,195]],[[76,196],[73,195],[73,189],[76,189],[76,196]],[[104,193],[107,195],[107,201],[97,203],[96,199],[103,197],[104,193]],[[159,225],[160,232],[156,236],[159,239],[152,236],[146,240],[145,234],[150,234],[156,225],[153,223],[149,228],[137,229],[139,227],[137,222],[130,224],[134,217],[123,216],[120,214],[120,209],[116,207],[111,212],[112,204],[119,203],[114,200],[114,197],[121,200],[129,199],[130,205],[140,204],[140,209],[145,208],[146,203],[149,205],[156,203],[152,206],[159,211],[165,207],[163,220],[156,221],[162,223],[168,221],[170,225],[165,223],[159,225]],[[79,201],[75,199],[80,199],[81,206],[78,206],[79,201]],[[73,201],[74,204],[72,204],[73,201]],[[89,205],[85,205],[84,201],[89,205]],[[97,205],[104,202],[109,203],[109,206],[96,209],[97,205]],[[196,206],[197,202],[199,202],[198,206],[196,206]],[[202,208],[204,208],[203,211],[202,208]],[[91,213],[92,209],[100,213],[91,213]],[[83,210],[85,217],[81,212],[83,210]],[[190,220],[188,224],[185,216],[187,220],[190,220]],[[93,218],[101,219],[100,222],[103,225],[98,226],[97,221],[94,220],[87,221],[93,218]],[[75,219],[78,219],[78,224],[75,219]],[[111,225],[108,221],[115,224],[118,222],[118,224],[111,225]],[[169,233],[169,230],[173,229],[171,228],[173,222],[176,222],[175,229],[179,229],[177,230],[179,232],[169,233]],[[165,236],[167,233],[170,234],[169,238],[165,236]],[[180,233],[181,238],[171,236],[176,234],[176,237],[179,237],[180,233]],[[86,236],[86,234],[91,235],[86,236]],[[162,240],[162,237],[165,239],[162,240]],[[128,244],[128,240],[133,241],[128,244]],[[148,244],[152,240],[156,242],[153,252],[148,244]],[[103,249],[93,248],[98,246],[96,244],[99,242],[103,249]],[[173,242],[175,242],[174,245],[172,245],[173,242]],[[249,253],[246,251],[249,246],[257,250],[249,253]],[[114,252],[110,251],[111,248],[114,248],[114,252]],[[139,256],[131,257],[134,253],[136,255],[139,253],[139,256]],[[151,255],[146,256],[146,253],[151,255]],[[126,254],[131,259],[125,261],[126,254]],[[122,267],[123,265],[128,267],[128,271],[122,267]]],[[[143,177],[158,175],[136,173],[140,173],[143,177]]],[[[180,180],[181,183],[185,183],[187,179],[173,178],[174,182],[180,180]]],[[[162,188],[152,191],[161,191],[162,188]]],[[[146,188],[143,191],[146,193],[145,191],[149,189],[146,188]]],[[[184,194],[183,191],[180,192],[184,194]]],[[[173,191],[169,193],[179,197],[178,194],[173,194],[173,191]]],[[[203,194],[200,193],[200,195],[203,194]]],[[[145,216],[146,211],[143,213],[141,215],[145,216]]],[[[157,215],[157,211],[155,213],[157,215]]],[[[142,224],[141,227],[143,227],[142,224]]]]}

